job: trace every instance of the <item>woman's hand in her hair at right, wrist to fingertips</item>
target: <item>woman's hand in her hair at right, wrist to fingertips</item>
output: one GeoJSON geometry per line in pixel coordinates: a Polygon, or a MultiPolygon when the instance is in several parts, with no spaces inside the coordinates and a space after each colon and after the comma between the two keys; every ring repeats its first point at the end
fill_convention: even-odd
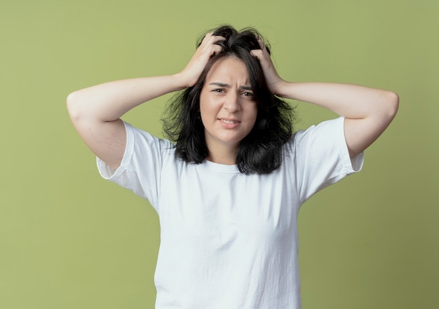
{"type": "Polygon", "coordinates": [[[264,71],[266,84],[269,86],[270,91],[274,95],[279,95],[279,88],[284,80],[279,76],[273,62],[271,61],[271,56],[269,50],[264,46],[264,41],[261,38],[257,39],[260,49],[251,50],[250,54],[256,57],[261,64],[262,70],[264,71]]]}

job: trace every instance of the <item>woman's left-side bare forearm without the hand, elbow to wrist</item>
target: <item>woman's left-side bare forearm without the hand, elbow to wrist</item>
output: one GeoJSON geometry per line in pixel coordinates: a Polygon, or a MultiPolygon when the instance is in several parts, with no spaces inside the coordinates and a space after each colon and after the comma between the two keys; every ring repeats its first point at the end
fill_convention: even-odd
{"type": "Polygon", "coordinates": [[[143,102],[184,86],[178,74],[111,81],[72,92],[67,104],[72,118],[115,121],[143,102]]]}

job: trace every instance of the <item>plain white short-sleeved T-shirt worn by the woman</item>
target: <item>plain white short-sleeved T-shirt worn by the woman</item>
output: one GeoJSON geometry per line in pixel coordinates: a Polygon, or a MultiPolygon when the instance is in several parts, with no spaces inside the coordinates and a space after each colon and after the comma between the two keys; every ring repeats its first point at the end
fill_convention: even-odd
{"type": "Polygon", "coordinates": [[[128,123],[126,132],[121,166],[97,165],[158,213],[156,309],[301,308],[299,207],[363,165],[363,153],[349,158],[344,118],[296,132],[281,167],[263,175],[185,163],[169,141],[128,123]]]}

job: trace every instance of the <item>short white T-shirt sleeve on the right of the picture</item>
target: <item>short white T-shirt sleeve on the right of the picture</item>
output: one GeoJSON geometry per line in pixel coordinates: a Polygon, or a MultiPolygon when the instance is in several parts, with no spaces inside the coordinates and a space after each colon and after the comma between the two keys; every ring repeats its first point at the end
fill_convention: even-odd
{"type": "Polygon", "coordinates": [[[359,172],[364,161],[364,152],[354,158],[349,156],[344,117],[296,132],[292,154],[301,204],[321,189],[359,172]]]}

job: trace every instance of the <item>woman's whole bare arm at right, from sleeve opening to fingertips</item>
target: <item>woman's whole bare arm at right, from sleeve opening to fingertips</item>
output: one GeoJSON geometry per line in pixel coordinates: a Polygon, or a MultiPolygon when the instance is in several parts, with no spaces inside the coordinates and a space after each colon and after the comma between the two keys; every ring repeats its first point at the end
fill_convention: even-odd
{"type": "Polygon", "coordinates": [[[317,104],[344,116],[344,135],[351,157],[370,146],[398,111],[396,93],[339,83],[291,83],[278,76],[262,41],[252,50],[264,69],[270,90],[279,97],[317,104]]]}

